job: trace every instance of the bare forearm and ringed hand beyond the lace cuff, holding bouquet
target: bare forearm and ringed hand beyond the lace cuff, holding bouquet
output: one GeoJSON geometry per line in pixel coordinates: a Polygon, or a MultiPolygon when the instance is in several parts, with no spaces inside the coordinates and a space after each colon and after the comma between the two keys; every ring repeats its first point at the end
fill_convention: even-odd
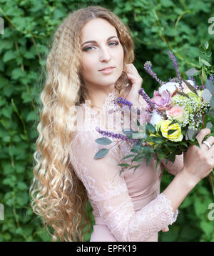
{"type": "MultiPolygon", "coordinates": [[[[204,137],[210,134],[210,129],[202,129],[197,139],[200,144],[200,149],[197,146],[190,146],[184,154],[183,169],[178,172],[173,181],[165,188],[163,195],[171,202],[173,210],[176,210],[188,195],[191,189],[198,182],[212,171],[214,167],[214,147],[208,149],[205,144],[202,144],[204,137]]],[[[214,137],[206,139],[211,145],[214,143],[214,137]]]]}

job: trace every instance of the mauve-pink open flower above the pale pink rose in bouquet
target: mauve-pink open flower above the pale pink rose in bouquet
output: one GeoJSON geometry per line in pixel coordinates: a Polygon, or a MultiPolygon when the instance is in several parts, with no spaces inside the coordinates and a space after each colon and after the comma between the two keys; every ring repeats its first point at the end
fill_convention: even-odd
{"type": "Polygon", "coordinates": [[[154,92],[154,95],[157,95],[157,96],[154,96],[151,99],[151,101],[155,104],[156,109],[163,111],[168,107],[170,107],[170,104],[172,102],[170,92],[164,90],[161,93],[161,95],[159,95],[157,92],[154,92]]]}

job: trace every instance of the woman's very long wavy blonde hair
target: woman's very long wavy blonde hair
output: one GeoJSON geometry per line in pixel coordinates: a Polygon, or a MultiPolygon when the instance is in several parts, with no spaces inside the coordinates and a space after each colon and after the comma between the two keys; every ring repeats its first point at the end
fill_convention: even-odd
{"type": "MultiPolygon", "coordinates": [[[[40,94],[37,125],[39,137],[36,139],[29,192],[31,207],[36,215],[42,217],[53,242],[58,239],[62,242],[83,242],[84,235],[91,229],[86,215],[86,189],[73,171],[69,154],[77,119],[73,106],[88,99],[80,74],[81,28],[96,18],[106,19],[116,28],[124,51],[123,67],[134,60],[133,39],[128,26],[101,6],[88,6],[71,12],[51,40],[51,50],[45,58],[46,78],[40,94]]],[[[126,90],[126,82],[126,73],[122,72],[115,84],[119,97],[126,90]]]]}

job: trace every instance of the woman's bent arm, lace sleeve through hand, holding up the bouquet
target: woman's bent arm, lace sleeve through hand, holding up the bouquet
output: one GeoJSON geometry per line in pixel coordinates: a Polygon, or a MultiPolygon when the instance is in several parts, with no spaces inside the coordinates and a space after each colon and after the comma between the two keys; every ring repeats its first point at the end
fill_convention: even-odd
{"type": "MultiPolygon", "coordinates": [[[[205,130],[198,134],[201,140],[208,134],[205,130]]],[[[87,189],[91,205],[96,206],[99,216],[120,242],[142,242],[164,227],[172,225],[177,218],[181,202],[195,184],[206,177],[214,167],[214,147],[210,152],[205,144],[201,149],[196,146],[189,148],[185,153],[182,171],[160,195],[135,212],[126,181],[123,175],[119,174],[121,167],[118,166],[118,152],[110,150],[108,157],[93,159],[96,153],[95,137],[93,133],[89,132],[87,136],[86,134],[87,132],[84,132],[76,137],[71,162],[87,189]],[[212,162],[209,162],[210,159],[212,162]]]]}

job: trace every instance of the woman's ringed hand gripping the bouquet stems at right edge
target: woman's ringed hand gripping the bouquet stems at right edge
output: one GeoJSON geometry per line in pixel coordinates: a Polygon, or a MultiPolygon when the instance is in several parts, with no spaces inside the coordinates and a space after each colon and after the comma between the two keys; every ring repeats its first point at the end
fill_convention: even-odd
{"type": "Polygon", "coordinates": [[[210,134],[210,132],[208,128],[200,130],[196,136],[200,144],[200,149],[196,145],[191,145],[183,154],[184,166],[181,172],[188,175],[189,182],[195,182],[197,184],[212,172],[214,167],[214,137],[210,136],[208,139],[205,139],[211,146],[213,145],[210,149],[206,144],[202,143],[204,137],[210,134]]]}

